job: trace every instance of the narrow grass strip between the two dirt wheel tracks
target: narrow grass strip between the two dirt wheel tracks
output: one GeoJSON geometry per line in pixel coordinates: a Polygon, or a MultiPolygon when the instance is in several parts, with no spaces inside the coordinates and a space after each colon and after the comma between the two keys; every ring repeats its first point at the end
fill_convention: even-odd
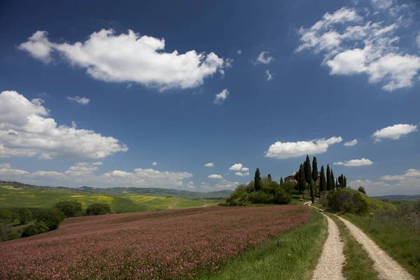
{"type": "Polygon", "coordinates": [[[377,280],[378,272],[373,268],[373,260],[363,249],[363,246],[351,235],[349,229],[342,221],[332,214],[327,214],[335,221],[339,228],[339,235],[344,240],[344,255],[346,263],[343,274],[347,280],[377,280]]]}

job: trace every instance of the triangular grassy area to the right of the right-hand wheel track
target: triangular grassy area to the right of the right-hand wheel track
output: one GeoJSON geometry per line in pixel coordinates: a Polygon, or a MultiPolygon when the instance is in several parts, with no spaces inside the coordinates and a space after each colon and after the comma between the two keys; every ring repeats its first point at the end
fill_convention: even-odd
{"type": "Polygon", "coordinates": [[[343,215],[363,230],[416,279],[420,279],[420,230],[408,221],[343,215]]]}

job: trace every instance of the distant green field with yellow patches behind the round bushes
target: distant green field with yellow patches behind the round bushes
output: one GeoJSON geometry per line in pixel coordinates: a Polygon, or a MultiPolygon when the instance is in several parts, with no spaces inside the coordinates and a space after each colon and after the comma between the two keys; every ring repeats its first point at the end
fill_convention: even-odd
{"type": "Polygon", "coordinates": [[[48,208],[64,200],[78,201],[86,208],[96,202],[105,202],[115,213],[179,209],[216,205],[220,200],[183,197],[157,197],[136,194],[102,194],[81,192],[80,190],[48,190],[39,188],[15,188],[0,186],[0,208],[35,207],[48,208]]]}

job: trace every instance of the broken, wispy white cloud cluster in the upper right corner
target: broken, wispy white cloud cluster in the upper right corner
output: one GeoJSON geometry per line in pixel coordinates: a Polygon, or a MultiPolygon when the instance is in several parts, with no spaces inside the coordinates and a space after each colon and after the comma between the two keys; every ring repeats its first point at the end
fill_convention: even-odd
{"type": "MultiPolygon", "coordinates": [[[[372,3],[389,8],[392,1],[372,3]]],[[[400,9],[394,9],[393,13],[403,14],[400,9]]],[[[411,87],[418,77],[420,57],[400,48],[400,37],[395,35],[409,19],[375,22],[367,17],[347,7],[325,13],[311,27],[299,29],[301,44],[296,52],[322,53],[323,65],[330,68],[331,75],[365,74],[369,83],[381,83],[389,92],[411,87]]]]}

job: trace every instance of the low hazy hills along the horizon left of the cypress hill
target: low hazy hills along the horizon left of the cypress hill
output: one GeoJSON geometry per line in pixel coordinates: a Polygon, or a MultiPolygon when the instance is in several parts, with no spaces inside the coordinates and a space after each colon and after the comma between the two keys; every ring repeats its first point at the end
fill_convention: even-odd
{"type": "Polygon", "coordinates": [[[129,194],[136,194],[136,195],[151,195],[151,196],[158,196],[158,197],[184,197],[188,199],[195,199],[195,198],[209,198],[209,197],[228,197],[232,190],[218,190],[210,193],[200,193],[200,192],[191,192],[189,190],[174,190],[169,188],[124,188],[124,187],[116,187],[116,188],[92,188],[89,186],[83,186],[80,188],[66,188],[66,187],[49,187],[49,186],[35,186],[29,185],[25,183],[20,183],[17,181],[0,181],[0,186],[13,186],[15,188],[37,188],[37,189],[45,189],[48,190],[68,190],[68,191],[76,191],[80,193],[106,193],[106,194],[120,194],[120,195],[129,195],[129,194]]]}

